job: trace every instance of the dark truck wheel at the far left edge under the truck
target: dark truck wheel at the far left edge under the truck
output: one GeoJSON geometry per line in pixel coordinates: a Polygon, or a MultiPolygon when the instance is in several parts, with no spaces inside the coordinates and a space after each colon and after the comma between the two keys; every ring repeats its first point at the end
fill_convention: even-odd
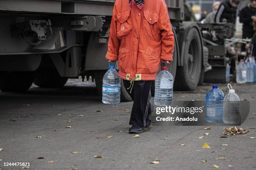
{"type": "Polygon", "coordinates": [[[0,90],[24,92],[29,89],[34,80],[34,72],[0,72],[0,90]]]}

